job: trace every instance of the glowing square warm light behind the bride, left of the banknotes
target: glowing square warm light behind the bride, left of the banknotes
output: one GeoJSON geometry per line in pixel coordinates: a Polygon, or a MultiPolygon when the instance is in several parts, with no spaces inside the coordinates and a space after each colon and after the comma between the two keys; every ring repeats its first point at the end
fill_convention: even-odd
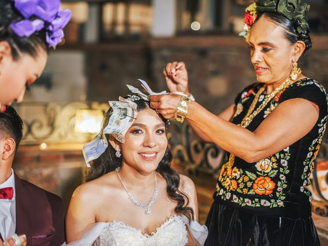
{"type": "Polygon", "coordinates": [[[98,133],[101,129],[104,114],[101,110],[80,109],[75,115],[75,132],[98,133]]]}

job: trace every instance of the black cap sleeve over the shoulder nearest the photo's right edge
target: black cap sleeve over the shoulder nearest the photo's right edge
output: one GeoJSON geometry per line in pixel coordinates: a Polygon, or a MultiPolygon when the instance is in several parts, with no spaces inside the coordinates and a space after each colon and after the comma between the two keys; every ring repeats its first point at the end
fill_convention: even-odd
{"type": "Polygon", "coordinates": [[[287,88],[281,94],[280,103],[292,98],[304,98],[312,101],[319,106],[319,119],[328,114],[327,94],[322,85],[313,79],[304,79],[295,83],[291,88],[287,88]]]}

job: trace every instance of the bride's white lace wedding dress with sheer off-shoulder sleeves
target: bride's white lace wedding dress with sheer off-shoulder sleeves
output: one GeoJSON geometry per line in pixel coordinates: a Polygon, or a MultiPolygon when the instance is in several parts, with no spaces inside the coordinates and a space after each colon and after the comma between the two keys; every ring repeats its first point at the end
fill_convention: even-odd
{"type": "MultiPolygon", "coordinates": [[[[197,221],[189,225],[186,216],[173,215],[150,235],[143,234],[123,222],[99,222],[85,233],[80,240],[69,246],[185,246],[188,242],[187,228],[197,246],[202,246],[207,238],[206,226],[197,221]]],[[[64,246],[66,244],[63,244],[64,246]]]]}

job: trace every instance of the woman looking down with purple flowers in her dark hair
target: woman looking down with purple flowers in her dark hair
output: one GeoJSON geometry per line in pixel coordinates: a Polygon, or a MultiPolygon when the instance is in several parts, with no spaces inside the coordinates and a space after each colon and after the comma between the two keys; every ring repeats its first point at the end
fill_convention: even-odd
{"type": "Polygon", "coordinates": [[[0,112],[25,91],[45,69],[48,49],[63,37],[71,12],[60,0],[0,2],[0,112]]]}

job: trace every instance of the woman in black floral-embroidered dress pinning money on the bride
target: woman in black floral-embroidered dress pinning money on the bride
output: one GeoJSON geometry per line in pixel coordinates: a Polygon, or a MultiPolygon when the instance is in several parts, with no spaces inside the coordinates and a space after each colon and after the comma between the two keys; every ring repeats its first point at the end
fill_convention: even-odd
{"type": "Polygon", "coordinates": [[[327,95],[297,67],[311,48],[309,5],[258,0],[244,24],[258,83],[214,115],[190,100],[183,63],[164,73],[171,92],[150,96],[166,118],[187,119],[205,141],[229,152],[208,215],[206,245],[319,245],[309,185],[327,121],[327,95]],[[178,105],[178,107],[177,107],[178,105]]]}

